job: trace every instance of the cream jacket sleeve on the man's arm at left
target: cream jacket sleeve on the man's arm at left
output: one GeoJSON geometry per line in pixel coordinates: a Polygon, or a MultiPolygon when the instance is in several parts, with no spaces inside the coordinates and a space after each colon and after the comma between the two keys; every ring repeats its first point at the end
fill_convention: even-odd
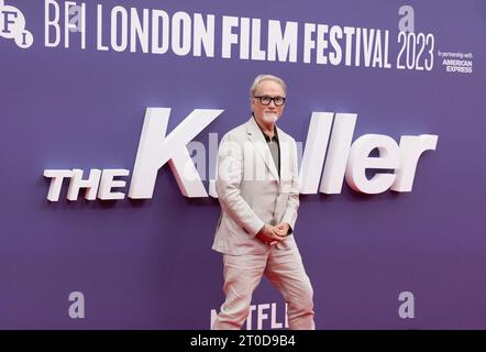
{"type": "Polygon", "coordinates": [[[224,135],[218,151],[216,190],[219,201],[231,219],[255,237],[265,223],[241,196],[243,165],[243,145],[231,134],[224,135]]]}

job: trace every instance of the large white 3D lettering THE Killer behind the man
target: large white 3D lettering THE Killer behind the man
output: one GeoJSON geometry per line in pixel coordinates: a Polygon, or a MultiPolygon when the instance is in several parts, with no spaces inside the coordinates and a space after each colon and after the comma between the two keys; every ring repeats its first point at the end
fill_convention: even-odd
{"type": "MultiPolygon", "coordinates": [[[[206,189],[188,144],[222,112],[196,109],[166,135],[170,109],[147,108],[129,197],[151,199],[158,169],[168,164],[184,196],[217,198],[214,179],[209,180],[206,189]]],[[[312,112],[300,166],[301,194],[340,194],[344,179],[352,189],[369,195],[388,189],[411,191],[419,158],[423,152],[435,150],[438,135],[402,135],[398,144],[387,135],[365,134],[353,142],[356,120],[354,113],[312,112]],[[379,155],[372,157],[375,150],[379,155]],[[369,169],[376,173],[368,179],[369,169]]],[[[212,144],[218,148],[218,143],[212,144]]],[[[211,157],[210,164],[216,165],[211,157]]],[[[51,178],[47,199],[59,200],[66,178],[69,179],[68,200],[77,200],[80,189],[86,189],[87,200],[125,198],[124,193],[113,191],[113,188],[124,188],[125,182],[114,178],[126,177],[130,170],[93,168],[87,179],[76,168],[44,169],[44,176],[51,178]]]]}

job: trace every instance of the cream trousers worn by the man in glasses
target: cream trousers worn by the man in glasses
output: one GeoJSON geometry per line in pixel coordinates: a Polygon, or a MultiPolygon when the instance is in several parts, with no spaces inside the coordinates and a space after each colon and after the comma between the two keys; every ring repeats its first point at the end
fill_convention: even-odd
{"type": "Polygon", "coordinates": [[[223,255],[225,301],[212,330],[241,329],[250,314],[252,295],[265,274],[288,305],[291,330],[314,330],[313,290],[299,250],[270,245],[265,254],[223,255]]]}

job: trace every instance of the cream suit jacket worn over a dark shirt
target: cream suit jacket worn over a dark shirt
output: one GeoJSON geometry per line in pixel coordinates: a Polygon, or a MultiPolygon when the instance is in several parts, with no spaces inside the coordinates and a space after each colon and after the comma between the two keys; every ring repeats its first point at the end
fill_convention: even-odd
{"type": "Polygon", "coordinates": [[[228,132],[218,152],[216,189],[221,205],[212,249],[231,255],[268,251],[256,233],[266,224],[287,222],[291,233],[276,243],[291,249],[299,208],[299,178],[295,140],[277,128],[280,175],[254,118],[228,132]]]}

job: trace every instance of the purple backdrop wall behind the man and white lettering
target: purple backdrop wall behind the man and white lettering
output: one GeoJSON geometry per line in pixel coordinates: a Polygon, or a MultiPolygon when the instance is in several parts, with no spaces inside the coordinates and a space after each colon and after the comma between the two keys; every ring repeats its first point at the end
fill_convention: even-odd
{"type": "MultiPolygon", "coordinates": [[[[221,256],[210,249],[216,199],[185,198],[164,166],[153,199],[81,195],[70,202],[65,183],[59,201],[49,202],[43,170],[132,174],[147,107],[173,109],[169,130],[196,108],[224,109],[196,141],[221,138],[247,119],[248,87],[259,73],[287,80],[280,127],[297,141],[306,141],[312,111],[357,113],[354,139],[439,135],[409,194],[366,196],[344,185],[339,195],[301,197],[296,240],[314,287],[318,329],[486,328],[484,1],[407,2],[416,32],[435,36],[431,72],[220,55],[220,19],[234,15],[386,29],[396,57],[402,1],[102,3],[106,11],[120,4],[214,14],[216,55],[99,52],[91,2],[86,50],[76,34],[69,48],[45,47],[44,1],[5,0],[23,12],[35,40],[21,50],[0,37],[0,328],[209,329],[211,309],[223,300],[221,256]],[[438,51],[473,53],[474,73],[446,73],[438,51]],[[85,296],[84,319],[68,315],[71,292],[85,296]],[[398,314],[402,292],[415,296],[413,319],[398,314]]],[[[283,320],[267,282],[253,301],[277,302],[283,320]]]]}

